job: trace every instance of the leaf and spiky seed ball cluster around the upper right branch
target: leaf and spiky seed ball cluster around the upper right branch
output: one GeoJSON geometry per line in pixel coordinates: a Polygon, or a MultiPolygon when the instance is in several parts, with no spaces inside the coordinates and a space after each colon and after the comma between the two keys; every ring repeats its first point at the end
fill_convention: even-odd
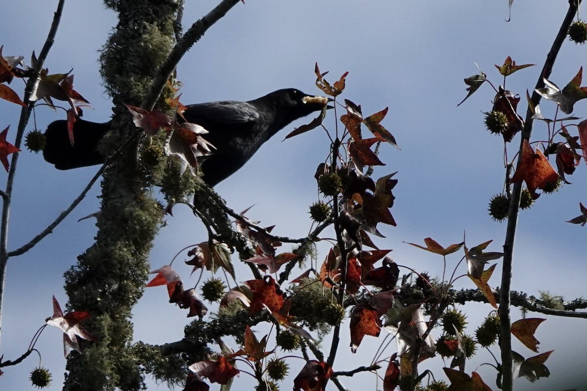
{"type": "MultiPolygon", "coordinates": [[[[498,87],[498,89],[494,87],[497,94],[494,98],[492,110],[485,113],[485,126],[492,133],[502,135],[505,143],[511,142],[514,136],[524,128],[524,120],[517,113],[520,97],[518,94],[514,94],[512,91],[505,89],[506,78],[518,70],[531,66],[534,66],[534,64],[517,65],[509,56],[501,66],[495,65],[504,77],[504,85],[498,87]]],[[[537,189],[541,189],[543,193],[551,193],[558,189],[563,182],[570,184],[566,179],[566,175],[572,175],[575,172],[575,168],[580,164],[581,158],[587,162],[587,120],[573,124],[569,121],[578,120],[578,117],[568,116],[557,118],[558,110],[561,110],[565,114],[571,114],[576,101],[587,98],[587,87],[581,87],[582,74],[583,68],[581,67],[576,76],[562,90],[555,83],[547,79],[543,80],[545,84],[544,88],[535,90],[535,93],[539,94],[539,96],[544,97],[546,100],[554,101],[557,104],[557,110],[553,119],[546,118],[542,114],[539,105],[535,106],[532,103],[529,93],[526,93],[528,107],[532,113],[532,120],[540,120],[546,123],[548,127],[548,138],[545,142],[538,142],[537,144],[540,145],[535,148],[532,147],[531,142],[527,139],[522,141],[522,149],[519,152],[521,158],[519,159],[519,164],[515,169],[514,175],[511,177],[511,167],[514,164],[513,162],[508,162],[507,149],[505,149],[504,161],[507,162],[506,178],[504,181],[505,192],[492,198],[489,207],[490,215],[494,220],[501,221],[508,216],[511,183],[524,181],[527,186],[531,200],[529,202],[527,200],[525,205],[521,205],[523,209],[524,206],[528,207],[531,205],[532,200],[540,196],[537,189]],[[557,124],[559,124],[558,128],[556,127],[557,124]],[[569,134],[568,128],[570,126],[576,126],[578,128],[578,135],[573,136],[569,134]],[[562,140],[555,141],[556,137],[560,137],[562,140]],[[556,169],[549,162],[550,157],[554,157],[556,169]]],[[[468,94],[464,100],[471,96],[485,81],[491,84],[483,72],[465,79],[465,83],[470,87],[467,89],[468,94]]],[[[573,220],[571,222],[574,222],[573,220]]],[[[581,222],[582,220],[578,220],[578,223],[581,222]]]]}

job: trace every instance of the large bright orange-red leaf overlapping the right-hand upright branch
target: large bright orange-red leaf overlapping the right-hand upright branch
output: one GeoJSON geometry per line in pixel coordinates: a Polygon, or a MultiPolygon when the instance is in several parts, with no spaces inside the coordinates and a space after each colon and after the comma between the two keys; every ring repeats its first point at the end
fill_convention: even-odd
{"type": "Polygon", "coordinates": [[[549,182],[558,180],[558,174],[554,171],[551,164],[546,160],[540,149],[534,149],[530,146],[528,140],[524,140],[522,146],[522,160],[512,176],[512,182],[519,182],[522,179],[526,182],[532,198],[537,199],[536,189],[544,189],[549,182]]]}

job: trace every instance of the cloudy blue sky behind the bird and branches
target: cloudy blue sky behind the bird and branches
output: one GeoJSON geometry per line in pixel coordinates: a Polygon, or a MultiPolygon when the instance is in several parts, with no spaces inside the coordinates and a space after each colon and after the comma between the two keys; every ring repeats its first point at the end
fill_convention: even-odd
{"type": "MultiPolygon", "coordinates": [[[[25,7],[19,2],[5,5],[0,14],[0,45],[4,45],[4,55],[23,55],[28,59],[32,50],[38,53],[55,5],[56,1],[46,0],[29,0],[25,7]]],[[[213,1],[188,2],[185,25],[214,5],[213,1]]],[[[525,113],[525,90],[534,88],[565,12],[566,2],[517,0],[512,21],[506,23],[505,1],[497,4],[247,0],[212,26],[184,57],[178,68],[178,78],[183,82],[182,101],[189,104],[250,100],[286,87],[319,94],[314,86],[315,62],[322,71],[330,71],[330,80],[349,72],[343,97],[362,104],[363,113],[367,114],[389,106],[383,125],[401,148],[398,151],[382,147],[382,160],[387,165],[379,168],[376,175],[398,171],[395,178],[399,183],[394,189],[396,203],[392,209],[397,227],[381,227],[386,238],[377,244],[393,249],[391,255],[399,264],[440,275],[441,259],[404,242],[422,243],[430,236],[446,246],[461,242],[466,232],[471,245],[493,239],[488,250],[500,251],[505,234],[505,223],[495,223],[487,215],[488,201],[501,192],[504,178],[501,138],[484,129],[481,113],[491,110],[494,92],[485,84],[457,108],[466,94],[463,79],[477,73],[475,62],[495,85],[502,79],[494,64],[503,63],[507,56],[519,64],[537,64],[508,79],[508,89],[522,96],[518,111],[525,113]]],[[[115,24],[114,14],[100,2],[68,2],[55,46],[46,62],[52,73],[73,68],[75,89],[94,107],[85,110],[86,120],[106,121],[110,116],[109,97],[100,81],[97,51],[115,24]]],[[[551,81],[559,87],[565,86],[579,67],[587,66],[586,59],[584,46],[565,42],[551,81]]],[[[22,88],[19,83],[20,80],[15,80],[12,88],[22,88]]],[[[554,104],[550,102],[543,102],[541,107],[545,114],[554,113],[554,104]]],[[[586,113],[586,101],[579,101],[574,114],[585,118],[586,113]]],[[[11,125],[9,140],[14,137],[18,114],[17,106],[0,102],[0,128],[11,125]]],[[[51,121],[62,117],[62,113],[55,114],[41,107],[36,111],[36,124],[43,130],[51,121]]],[[[334,121],[330,114],[325,124],[333,128],[334,121]]],[[[255,205],[248,212],[252,219],[261,220],[264,225],[276,225],[275,232],[293,237],[308,232],[310,220],[306,212],[318,199],[313,174],[326,158],[329,147],[328,137],[321,130],[282,141],[287,131],[300,124],[292,124],[267,142],[238,174],[216,188],[232,209],[244,210],[255,205]]],[[[532,140],[546,138],[545,126],[537,123],[534,129],[532,140]]],[[[518,140],[515,139],[515,144],[518,140]]],[[[510,156],[513,151],[510,147],[510,156]]],[[[52,222],[96,169],[56,171],[41,155],[22,152],[12,203],[9,249],[28,242],[52,222]]],[[[586,179],[582,164],[569,178],[573,185],[563,186],[554,195],[541,196],[536,205],[521,213],[512,282],[515,290],[534,295],[539,290],[548,290],[568,299],[586,295],[585,229],[565,222],[579,215],[580,201],[587,202],[586,179]]],[[[62,274],[90,246],[96,232],[92,220],[77,222],[77,219],[97,211],[97,194],[98,189],[93,189],[51,236],[9,261],[1,346],[5,359],[14,359],[25,351],[36,329],[51,315],[51,295],[55,294],[65,304],[62,274]]],[[[153,268],[168,263],[188,244],[206,240],[204,227],[187,208],[179,206],[174,210],[174,217],[167,220],[168,226],[161,231],[151,254],[153,268]]],[[[319,261],[325,255],[326,246],[321,247],[319,261]]],[[[454,267],[459,259],[460,256],[449,259],[449,265],[454,267]]],[[[184,267],[182,260],[174,266],[186,284],[195,283],[195,278],[188,278],[190,268],[184,267]]],[[[498,261],[496,274],[490,280],[494,287],[499,284],[500,267],[498,261]]],[[[246,268],[238,270],[241,271],[239,281],[250,278],[246,268]]],[[[473,287],[465,279],[459,281],[462,287],[473,287]]],[[[161,343],[181,338],[187,322],[185,313],[168,304],[161,290],[147,290],[137,305],[136,339],[161,343]]],[[[465,311],[470,314],[472,333],[489,307],[470,305],[465,311]]],[[[587,389],[587,382],[579,377],[587,358],[585,320],[529,316],[548,318],[536,336],[542,342],[539,352],[555,349],[547,362],[551,376],[534,385],[519,379],[516,389],[587,389]]],[[[514,319],[517,317],[519,314],[513,315],[514,319]]],[[[356,355],[347,348],[348,334],[343,334],[335,369],[350,370],[357,362],[359,365],[370,362],[384,334],[382,331],[379,339],[367,336],[356,355]]],[[[517,342],[514,345],[522,355],[534,355],[517,342]]],[[[53,372],[50,390],[60,389],[65,359],[59,330],[46,329],[36,348],[42,353],[43,365],[53,372]]],[[[387,356],[393,353],[393,348],[388,350],[387,356]]],[[[491,362],[490,356],[480,354],[467,364],[468,372],[483,362],[491,362]]],[[[31,356],[21,365],[6,368],[0,387],[32,389],[28,372],[37,364],[37,359],[31,356]]],[[[299,365],[292,363],[294,375],[299,365]]],[[[441,366],[439,358],[430,360],[430,368],[440,377],[443,376],[441,366]]],[[[480,371],[495,389],[495,373],[488,366],[482,366],[480,371]]],[[[250,385],[246,377],[241,375],[238,381],[250,385]]],[[[367,389],[375,390],[375,376],[356,376],[345,381],[353,390],[365,389],[366,384],[367,389]]],[[[283,389],[288,387],[284,384],[283,389]]],[[[166,386],[151,385],[151,388],[164,390],[166,386]]]]}

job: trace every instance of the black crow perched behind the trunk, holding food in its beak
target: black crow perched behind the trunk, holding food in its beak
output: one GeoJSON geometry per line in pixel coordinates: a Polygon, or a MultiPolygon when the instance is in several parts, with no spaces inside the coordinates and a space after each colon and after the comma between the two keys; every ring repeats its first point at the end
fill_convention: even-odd
{"type": "MultiPolygon", "coordinates": [[[[208,131],[202,137],[216,148],[201,162],[203,179],[214,186],[241,168],[272,135],[298,118],[320,111],[329,99],[296,89],[274,91],[248,102],[218,101],[187,106],[183,115],[208,131]]],[[[66,121],[49,124],[43,157],[58,169],[103,164],[97,150],[109,123],[78,120],[73,127],[75,145],[69,142],[66,121]]]]}

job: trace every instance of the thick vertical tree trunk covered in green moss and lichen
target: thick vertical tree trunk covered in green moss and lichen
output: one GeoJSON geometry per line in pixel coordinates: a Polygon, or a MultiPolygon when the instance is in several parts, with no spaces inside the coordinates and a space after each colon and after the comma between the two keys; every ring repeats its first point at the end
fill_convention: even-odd
{"type": "MultiPolygon", "coordinates": [[[[105,0],[119,23],[100,57],[104,85],[116,105],[112,135],[102,150],[112,153],[134,131],[122,103],[139,106],[174,43],[177,4],[161,0],[105,0]]],[[[146,175],[129,148],[102,181],[96,243],[66,273],[69,305],[90,311],[89,329],[99,341],[68,359],[66,390],[139,390],[143,375],[129,345],[131,308],[143,293],[147,258],[161,208],[150,196],[146,175]]],[[[90,344],[88,344],[90,345],[90,344]]]]}

